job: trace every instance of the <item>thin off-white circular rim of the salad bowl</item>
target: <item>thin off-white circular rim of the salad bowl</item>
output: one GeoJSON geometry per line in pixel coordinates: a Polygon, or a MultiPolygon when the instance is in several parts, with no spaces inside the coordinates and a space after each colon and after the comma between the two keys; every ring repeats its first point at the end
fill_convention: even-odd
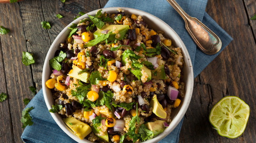
{"type": "MultiPolygon", "coordinates": [[[[192,68],[192,63],[191,63],[191,59],[190,59],[190,56],[188,54],[188,51],[184,45],[184,43],[182,42],[181,38],[178,36],[178,34],[168,25],[166,24],[165,22],[163,22],[162,20],[160,20],[159,18],[157,18],[156,16],[152,15],[152,14],[149,14],[147,12],[144,12],[142,10],[138,10],[138,9],[134,9],[134,8],[125,8],[125,7],[110,7],[110,8],[100,8],[102,9],[102,11],[114,11],[116,10],[117,8],[120,8],[122,10],[125,10],[125,11],[133,11],[139,15],[147,15],[147,16],[150,16],[152,17],[153,19],[157,19],[161,22],[161,24],[163,24],[164,26],[167,26],[169,28],[169,30],[171,30],[173,32],[174,36],[177,40],[178,40],[178,43],[180,46],[181,46],[181,49],[182,49],[182,55],[183,55],[183,60],[184,62],[186,62],[188,65],[188,75],[187,75],[187,80],[188,82],[186,83],[186,94],[185,94],[185,97],[182,99],[182,105],[179,106],[178,108],[179,109],[179,112],[175,115],[175,118],[172,119],[171,123],[170,123],[170,126],[168,128],[166,128],[161,134],[159,134],[158,136],[150,139],[150,140],[147,140],[147,141],[144,141],[144,143],[153,143],[153,142],[158,142],[160,141],[161,139],[163,139],[165,136],[169,135],[171,133],[171,131],[173,131],[176,126],[180,123],[181,119],[183,118],[184,114],[186,113],[186,110],[189,106],[189,103],[190,103],[190,100],[191,100],[191,97],[192,97],[192,92],[193,92],[193,84],[194,84],[194,77],[193,77],[193,68],[192,68]],[[180,112],[180,110],[182,112],[180,112]],[[172,125],[172,126],[171,126],[172,125]]],[[[47,98],[47,87],[45,85],[45,82],[47,81],[46,79],[49,79],[49,75],[46,75],[46,70],[49,69],[49,59],[51,59],[52,57],[50,57],[51,55],[51,52],[53,52],[54,49],[56,49],[56,44],[59,45],[59,43],[57,43],[57,40],[60,39],[63,35],[66,35],[67,31],[69,31],[69,29],[67,27],[70,27],[72,25],[72,23],[79,23],[80,20],[84,19],[84,18],[88,18],[88,14],[89,15],[93,15],[95,14],[98,10],[100,9],[96,9],[96,10],[93,10],[91,12],[88,12],[84,15],[82,15],[81,17],[77,18],[76,20],[74,20],[73,22],[71,22],[70,24],[68,24],[59,34],[58,36],[55,38],[55,40],[53,41],[51,47],[49,48],[48,52],[47,52],[47,55],[46,55],[46,58],[45,58],[45,62],[44,62],[44,65],[43,65],[43,72],[42,72],[42,88],[43,88],[43,95],[44,95],[44,100],[45,100],[45,103],[47,105],[47,108],[48,110],[50,110],[52,108],[52,104],[53,103],[50,103],[50,101],[48,100],[47,98]]],[[[129,13],[129,12],[128,12],[129,13]]],[[[69,33],[69,32],[68,32],[69,33]]],[[[87,139],[79,139],[77,135],[74,134],[74,132],[69,129],[69,127],[66,126],[66,124],[62,121],[61,117],[59,116],[58,113],[50,113],[51,116],[53,117],[54,121],[58,124],[58,126],[67,134],[69,135],[72,139],[74,139],[75,141],[79,142],[79,143],[91,143],[89,140],[87,139]],[[62,121],[62,122],[61,122],[62,121]]]]}

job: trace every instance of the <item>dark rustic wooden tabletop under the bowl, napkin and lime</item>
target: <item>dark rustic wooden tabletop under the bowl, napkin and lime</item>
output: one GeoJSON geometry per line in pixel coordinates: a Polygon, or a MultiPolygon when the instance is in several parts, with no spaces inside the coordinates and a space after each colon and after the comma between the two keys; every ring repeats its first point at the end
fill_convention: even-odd
{"type": "MultiPolygon", "coordinates": [[[[10,33],[0,35],[0,92],[9,96],[0,103],[0,142],[22,142],[20,122],[32,99],[30,86],[42,88],[45,56],[58,33],[78,14],[103,8],[108,0],[24,0],[0,4],[0,25],[10,33]],[[58,19],[56,14],[64,17],[58,19]],[[49,21],[51,29],[41,27],[49,21]],[[22,52],[33,53],[35,63],[25,66],[22,52]]],[[[256,13],[253,0],[208,0],[206,12],[234,39],[195,79],[193,96],[185,114],[180,142],[253,142],[256,140],[256,13]],[[244,133],[229,139],[217,134],[208,121],[211,108],[224,96],[238,96],[250,106],[244,133]]]]}

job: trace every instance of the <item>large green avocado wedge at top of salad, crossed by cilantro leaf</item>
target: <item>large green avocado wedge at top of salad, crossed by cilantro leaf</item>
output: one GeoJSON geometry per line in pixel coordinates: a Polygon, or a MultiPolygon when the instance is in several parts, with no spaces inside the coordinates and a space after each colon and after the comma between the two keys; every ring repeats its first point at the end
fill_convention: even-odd
{"type": "Polygon", "coordinates": [[[116,34],[115,34],[115,33],[112,33],[112,34],[109,35],[109,37],[108,37],[107,40],[109,40],[109,41],[122,40],[122,39],[125,37],[125,35],[126,35],[128,29],[129,29],[129,25],[115,25],[115,24],[109,24],[109,25],[107,26],[107,25],[105,24],[105,25],[103,25],[103,27],[102,27],[101,29],[98,29],[98,30],[96,30],[96,31],[93,33],[94,38],[96,39],[96,38],[98,38],[99,36],[101,36],[101,35],[103,35],[103,34],[106,34],[106,33],[102,32],[102,31],[104,31],[104,30],[108,30],[107,33],[109,33],[109,32],[111,32],[111,31],[115,30],[115,29],[113,28],[114,26],[117,27],[118,34],[120,34],[120,37],[119,37],[118,39],[116,39],[116,38],[115,38],[116,34]],[[102,32],[102,33],[101,33],[101,32],[102,32]]]}

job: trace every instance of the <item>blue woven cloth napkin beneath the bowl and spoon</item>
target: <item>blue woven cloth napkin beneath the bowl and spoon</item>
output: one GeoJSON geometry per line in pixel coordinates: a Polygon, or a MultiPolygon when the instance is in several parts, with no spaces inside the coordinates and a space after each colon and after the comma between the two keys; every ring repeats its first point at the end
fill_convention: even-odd
{"type": "MultiPolygon", "coordinates": [[[[187,31],[181,16],[165,0],[109,0],[105,7],[128,7],[148,12],[170,25],[184,42],[191,58],[196,77],[218,54],[232,41],[232,38],[205,12],[207,0],[176,0],[190,16],[196,17],[216,33],[222,41],[222,49],[215,55],[206,55],[196,47],[187,31]]],[[[55,123],[46,107],[42,89],[35,95],[27,107],[34,109],[29,113],[34,124],[27,126],[21,135],[25,143],[73,143],[75,140],[66,135],[55,123]]],[[[27,108],[26,107],[26,108],[27,108]]],[[[178,143],[182,121],[160,143],[178,143]]]]}

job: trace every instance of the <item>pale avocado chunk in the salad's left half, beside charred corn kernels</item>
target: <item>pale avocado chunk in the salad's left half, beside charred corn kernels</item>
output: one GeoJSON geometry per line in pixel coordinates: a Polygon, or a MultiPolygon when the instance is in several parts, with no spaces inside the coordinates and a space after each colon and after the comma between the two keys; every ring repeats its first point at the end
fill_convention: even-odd
{"type": "Polygon", "coordinates": [[[81,74],[78,74],[78,72],[82,71],[82,69],[78,68],[75,65],[72,66],[72,69],[73,69],[73,71],[72,71],[72,73],[68,74],[69,76],[74,77],[76,79],[79,79],[79,80],[81,80],[83,82],[86,82],[86,83],[90,82],[89,81],[89,78],[90,78],[90,75],[91,75],[90,72],[85,71],[85,72],[83,72],[81,74]]]}

